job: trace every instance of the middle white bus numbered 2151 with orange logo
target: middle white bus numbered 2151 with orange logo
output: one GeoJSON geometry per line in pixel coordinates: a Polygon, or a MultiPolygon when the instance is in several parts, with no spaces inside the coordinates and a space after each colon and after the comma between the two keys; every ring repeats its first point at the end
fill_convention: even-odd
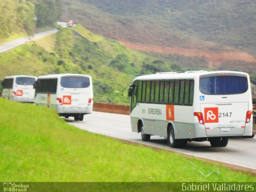
{"type": "Polygon", "coordinates": [[[35,104],[48,106],[65,118],[82,121],[92,113],[92,77],[82,74],[39,76],[34,84],[35,104]]]}

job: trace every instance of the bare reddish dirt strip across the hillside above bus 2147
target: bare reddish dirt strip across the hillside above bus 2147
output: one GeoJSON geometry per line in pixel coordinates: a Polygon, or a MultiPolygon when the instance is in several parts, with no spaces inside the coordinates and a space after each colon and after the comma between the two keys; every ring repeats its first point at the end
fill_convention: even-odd
{"type": "Polygon", "coordinates": [[[208,60],[208,67],[219,67],[223,63],[229,61],[243,61],[255,63],[256,59],[248,54],[247,52],[242,52],[238,50],[228,50],[228,51],[219,51],[219,52],[210,52],[196,49],[186,49],[180,47],[160,47],[156,45],[147,45],[147,44],[138,44],[132,42],[121,41],[122,44],[126,45],[128,48],[158,52],[164,54],[181,54],[185,56],[204,56],[208,60]]]}

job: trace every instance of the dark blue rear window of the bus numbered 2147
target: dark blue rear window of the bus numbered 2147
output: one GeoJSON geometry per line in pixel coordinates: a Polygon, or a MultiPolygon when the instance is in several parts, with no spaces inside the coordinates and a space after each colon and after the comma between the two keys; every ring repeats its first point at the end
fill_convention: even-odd
{"type": "Polygon", "coordinates": [[[241,94],[247,90],[247,78],[242,76],[211,76],[200,79],[200,91],[203,94],[241,94]]]}

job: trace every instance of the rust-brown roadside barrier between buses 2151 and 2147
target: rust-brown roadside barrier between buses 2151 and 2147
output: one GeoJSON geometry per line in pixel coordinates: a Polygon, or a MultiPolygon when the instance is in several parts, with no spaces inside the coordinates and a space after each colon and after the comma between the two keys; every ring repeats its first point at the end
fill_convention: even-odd
{"type": "Polygon", "coordinates": [[[124,115],[130,115],[130,106],[128,105],[117,105],[108,103],[93,103],[93,110],[107,113],[118,113],[124,115]]]}

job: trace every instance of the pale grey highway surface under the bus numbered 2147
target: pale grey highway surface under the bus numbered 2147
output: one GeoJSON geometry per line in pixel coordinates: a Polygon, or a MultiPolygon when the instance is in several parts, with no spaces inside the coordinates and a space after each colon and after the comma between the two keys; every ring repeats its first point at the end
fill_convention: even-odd
{"type": "Polygon", "coordinates": [[[163,137],[152,136],[150,142],[142,141],[140,134],[132,132],[129,115],[94,111],[92,114],[85,115],[83,121],[74,121],[73,119],[69,118],[66,121],[82,130],[220,161],[234,167],[250,168],[254,174],[256,173],[256,138],[230,138],[226,147],[211,147],[210,142],[205,141],[188,142],[186,148],[170,148],[163,137]]]}

